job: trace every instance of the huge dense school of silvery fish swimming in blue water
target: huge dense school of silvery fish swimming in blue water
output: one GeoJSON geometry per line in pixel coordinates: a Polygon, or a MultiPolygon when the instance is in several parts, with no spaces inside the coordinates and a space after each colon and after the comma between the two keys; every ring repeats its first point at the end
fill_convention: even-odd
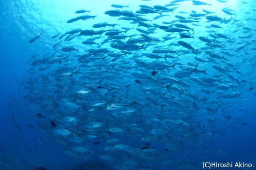
{"type": "Polygon", "coordinates": [[[105,14],[127,21],[128,27],[91,24],[97,19],[91,15],[68,20],[90,19],[92,28],[56,34],[52,38],[60,41],[53,51],[27,62],[27,76],[15,79],[25,87],[26,107],[16,95],[9,98],[16,133],[23,118],[36,119],[45,134],[41,144],[50,141],[70,156],[112,162],[117,170],[155,170],[165,164],[193,169],[204,161],[204,156],[181,161],[174,155],[213,153],[209,144],[225,133],[224,127],[247,124],[232,111],[249,114],[241,101],[255,93],[256,29],[247,23],[256,18],[235,19],[231,7],[222,9],[224,18],[205,9],[179,11],[182,1],[211,5],[174,0],[165,6],[140,5],[137,11],[111,5],[120,9],[105,14]],[[152,14],[153,20],[147,19],[152,14]],[[162,17],[165,21],[158,22],[162,17]],[[200,27],[207,30],[202,33],[200,27]],[[65,45],[69,41],[73,46],[65,45]]]}

